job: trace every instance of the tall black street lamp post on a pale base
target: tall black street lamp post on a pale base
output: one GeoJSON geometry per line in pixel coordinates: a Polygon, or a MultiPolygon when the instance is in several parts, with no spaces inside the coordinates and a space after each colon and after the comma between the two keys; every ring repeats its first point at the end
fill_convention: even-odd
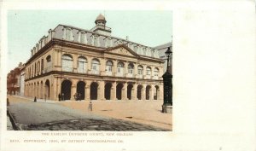
{"type": "Polygon", "coordinates": [[[162,113],[172,113],[172,71],[170,68],[170,57],[172,51],[170,47],[166,50],[167,68],[166,73],[162,76],[164,80],[164,104],[162,105],[162,113]]]}

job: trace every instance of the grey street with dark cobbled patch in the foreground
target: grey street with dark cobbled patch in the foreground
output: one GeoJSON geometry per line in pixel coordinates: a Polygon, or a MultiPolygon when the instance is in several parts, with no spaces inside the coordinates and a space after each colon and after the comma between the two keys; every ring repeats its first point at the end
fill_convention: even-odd
{"type": "Polygon", "coordinates": [[[152,125],[83,112],[55,102],[32,102],[9,96],[9,112],[22,130],[39,131],[170,131],[152,125]]]}

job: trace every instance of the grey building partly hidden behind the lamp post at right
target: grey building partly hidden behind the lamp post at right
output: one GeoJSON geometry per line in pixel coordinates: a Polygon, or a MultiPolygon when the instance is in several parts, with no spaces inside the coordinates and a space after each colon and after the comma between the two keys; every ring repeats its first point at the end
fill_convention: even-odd
{"type": "MultiPolygon", "coordinates": [[[[158,49],[159,50],[159,56],[160,59],[162,59],[163,61],[165,61],[164,63],[164,73],[166,72],[166,67],[167,67],[167,57],[166,57],[166,50],[168,49],[168,47],[170,47],[171,51],[172,51],[172,42],[171,43],[167,43],[167,44],[161,44],[159,46],[154,47],[154,49],[158,49]]],[[[170,58],[170,70],[172,72],[172,55],[170,58]]]]}

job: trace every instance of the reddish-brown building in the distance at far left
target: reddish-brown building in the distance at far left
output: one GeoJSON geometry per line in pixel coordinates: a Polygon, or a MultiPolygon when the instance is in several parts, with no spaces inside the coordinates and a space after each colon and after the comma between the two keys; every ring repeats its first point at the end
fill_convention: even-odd
{"type": "Polygon", "coordinates": [[[9,95],[19,95],[20,94],[20,71],[22,68],[22,63],[20,62],[18,67],[15,67],[14,70],[11,70],[7,74],[7,94],[9,95]]]}

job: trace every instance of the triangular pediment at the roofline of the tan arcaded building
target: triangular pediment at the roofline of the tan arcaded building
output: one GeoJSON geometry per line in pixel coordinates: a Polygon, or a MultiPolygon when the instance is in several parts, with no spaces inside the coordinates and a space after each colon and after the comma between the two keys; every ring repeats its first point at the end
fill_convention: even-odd
{"type": "Polygon", "coordinates": [[[124,45],[114,47],[112,49],[108,49],[107,51],[113,54],[118,54],[118,55],[137,56],[135,52],[133,52],[131,49],[129,49],[124,45]]]}

